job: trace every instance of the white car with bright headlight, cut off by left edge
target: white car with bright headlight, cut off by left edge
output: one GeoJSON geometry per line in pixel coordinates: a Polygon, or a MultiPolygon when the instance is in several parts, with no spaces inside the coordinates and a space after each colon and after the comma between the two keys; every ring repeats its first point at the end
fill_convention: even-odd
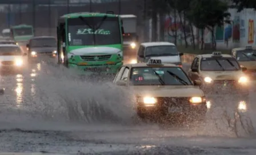
{"type": "Polygon", "coordinates": [[[21,71],[24,55],[16,44],[0,44],[0,70],[21,71]]]}

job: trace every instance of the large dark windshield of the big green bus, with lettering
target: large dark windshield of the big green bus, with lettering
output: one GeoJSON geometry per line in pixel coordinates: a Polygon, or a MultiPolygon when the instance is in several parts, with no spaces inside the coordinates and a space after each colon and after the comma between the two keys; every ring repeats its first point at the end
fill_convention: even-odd
{"type": "Polygon", "coordinates": [[[117,17],[82,17],[67,21],[70,46],[121,44],[117,17]]]}

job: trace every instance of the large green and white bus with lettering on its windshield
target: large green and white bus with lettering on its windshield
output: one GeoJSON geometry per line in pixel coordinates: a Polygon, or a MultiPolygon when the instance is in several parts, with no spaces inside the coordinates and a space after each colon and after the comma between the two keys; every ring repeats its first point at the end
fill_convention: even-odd
{"type": "Polygon", "coordinates": [[[119,15],[71,13],[59,18],[58,63],[83,73],[115,74],[123,65],[123,27],[119,15]]]}

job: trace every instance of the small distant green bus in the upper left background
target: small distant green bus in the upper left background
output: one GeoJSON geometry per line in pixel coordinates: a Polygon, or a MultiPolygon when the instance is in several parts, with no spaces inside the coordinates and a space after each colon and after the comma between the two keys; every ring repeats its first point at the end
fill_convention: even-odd
{"type": "Polygon", "coordinates": [[[27,42],[34,36],[34,28],[31,25],[16,25],[10,28],[11,36],[15,42],[27,42]]]}

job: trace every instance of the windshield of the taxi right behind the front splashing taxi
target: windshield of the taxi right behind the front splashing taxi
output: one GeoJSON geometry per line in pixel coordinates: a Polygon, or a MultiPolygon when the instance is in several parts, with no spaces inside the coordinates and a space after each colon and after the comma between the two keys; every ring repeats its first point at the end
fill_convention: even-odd
{"type": "Polygon", "coordinates": [[[235,58],[202,58],[201,71],[238,71],[239,64],[235,58]]]}

